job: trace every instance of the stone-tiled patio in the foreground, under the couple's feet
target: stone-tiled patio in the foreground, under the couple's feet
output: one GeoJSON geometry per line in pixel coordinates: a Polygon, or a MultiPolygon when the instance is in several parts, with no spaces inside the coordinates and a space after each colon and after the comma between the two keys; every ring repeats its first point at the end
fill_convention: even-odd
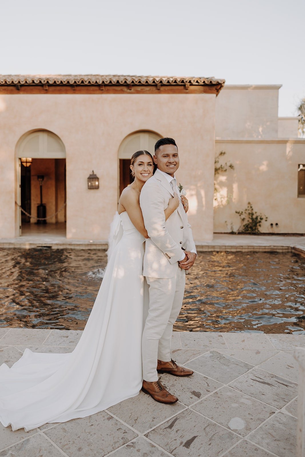
{"type": "MultiPolygon", "coordinates": [[[[0,364],[26,347],[70,352],[81,331],[0,328],[0,364]]],[[[0,427],[0,457],[294,457],[298,367],[305,335],[174,332],[172,357],[189,378],[162,375],[174,405],[148,395],[63,424],[0,427]]]]}

